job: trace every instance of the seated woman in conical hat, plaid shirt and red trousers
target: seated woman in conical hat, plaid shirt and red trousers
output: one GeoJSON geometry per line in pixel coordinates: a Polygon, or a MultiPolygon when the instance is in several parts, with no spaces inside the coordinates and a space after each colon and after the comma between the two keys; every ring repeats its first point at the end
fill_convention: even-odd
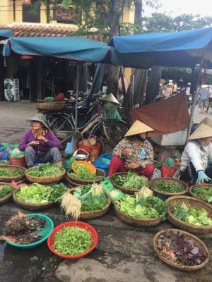
{"type": "Polygon", "coordinates": [[[110,161],[108,176],[116,172],[126,172],[129,169],[151,178],[155,167],[153,166],[153,147],[146,140],[147,133],[153,128],[135,121],[113,150],[113,157],[110,161]]]}

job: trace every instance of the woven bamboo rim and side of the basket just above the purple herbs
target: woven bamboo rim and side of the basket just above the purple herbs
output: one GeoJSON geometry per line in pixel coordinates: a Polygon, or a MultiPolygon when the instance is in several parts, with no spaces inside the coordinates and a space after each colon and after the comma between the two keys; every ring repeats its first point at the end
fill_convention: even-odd
{"type": "Polygon", "coordinates": [[[167,198],[167,200],[165,200],[165,202],[167,203],[167,215],[168,215],[168,220],[171,221],[174,225],[175,225],[175,222],[177,222],[177,225],[180,226],[180,228],[190,228],[192,229],[193,231],[197,231],[197,232],[211,232],[212,231],[212,226],[196,226],[194,224],[191,224],[191,223],[187,223],[185,221],[182,221],[181,219],[177,219],[176,216],[174,216],[172,214],[172,212],[170,211],[171,207],[170,207],[170,202],[172,200],[182,200],[184,202],[186,201],[192,201],[192,202],[196,202],[196,203],[199,203],[203,206],[204,209],[206,209],[208,211],[208,209],[210,210],[211,209],[211,212],[212,212],[212,207],[210,204],[204,202],[204,201],[200,201],[194,197],[189,197],[189,196],[172,196],[172,197],[169,197],[167,198]]]}

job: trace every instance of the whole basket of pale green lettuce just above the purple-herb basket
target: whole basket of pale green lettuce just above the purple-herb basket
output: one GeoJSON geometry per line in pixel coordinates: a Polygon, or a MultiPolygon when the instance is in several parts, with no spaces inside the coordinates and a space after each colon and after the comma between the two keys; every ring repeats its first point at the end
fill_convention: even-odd
{"type": "Polygon", "coordinates": [[[175,226],[199,235],[212,232],[212,207],[194,197],[167,198],[167,218],[175,226]]]}

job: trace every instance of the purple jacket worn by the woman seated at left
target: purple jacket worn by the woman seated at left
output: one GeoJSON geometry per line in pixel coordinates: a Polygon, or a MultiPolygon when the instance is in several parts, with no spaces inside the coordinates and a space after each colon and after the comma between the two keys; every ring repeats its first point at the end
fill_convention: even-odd
{"type": "Polygon", "coordinates": [[[44,157],[50,148],[52,147],[57,147],[59,149],[61,148],[61,142],[59,142],[59,140],[57,139],[57,137],[54,135],[54,133],[51,130],[49,130],[45,134],[45,138],[47,138],[48,140],[47,142],[36,139],[32,130],[29,129],[21,137],[19,149],[20,151],[24,151],[29,142],[39,141],[40,145],[33,145],[33,149],[35,150],[35,153],[37,154],[37,156],[44,157]]]}

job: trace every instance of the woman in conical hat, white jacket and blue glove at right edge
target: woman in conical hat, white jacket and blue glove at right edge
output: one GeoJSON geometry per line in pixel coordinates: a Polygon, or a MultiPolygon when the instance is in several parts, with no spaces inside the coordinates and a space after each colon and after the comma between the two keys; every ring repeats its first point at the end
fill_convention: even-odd
{"type": "Polygon", "coordinates": [[[212,127],[209,124],[198,125],[182,153],[180,178],[192,184],[212,178],[212,127]]]}

